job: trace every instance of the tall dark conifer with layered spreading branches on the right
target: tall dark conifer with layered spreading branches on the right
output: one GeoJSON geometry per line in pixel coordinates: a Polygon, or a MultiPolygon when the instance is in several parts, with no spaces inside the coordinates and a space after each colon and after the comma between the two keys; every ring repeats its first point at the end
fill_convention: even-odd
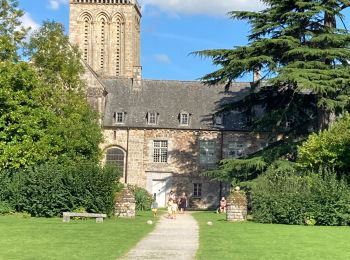
{"type": "Polygon", "coordinates": [[[257,83],[267,80],[263,87],[254,85],[251,95],[228,109],[244,107],[251,113],[254,105],[263,105],[267,113],[256,120],[257,128],[278,131],[292,121],[300,134],[316,116],[317,106],[318,123],[327,125],[325,115],[342,112],[350,102],[350,35],[341,22],[350,1],[263,2],[263,11],[230,13],[251,25],[247,46],[195,52],[220,67],[202,80],[230,84],[259,71],[257,83]]]}

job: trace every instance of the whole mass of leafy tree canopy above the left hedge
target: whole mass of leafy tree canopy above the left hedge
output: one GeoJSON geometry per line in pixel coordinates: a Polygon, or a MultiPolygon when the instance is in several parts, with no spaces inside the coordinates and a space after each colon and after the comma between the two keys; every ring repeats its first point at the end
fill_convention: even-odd
{"type": "Polygon", "coordinates": [[[23,12],[17,1],[0,4],[0,37],[11,43],[0,43],[0,169],[51,160],[98,163],[102,133],[85,98],[78,49],[69,44],[62,25],[45,22],[29,40],[30,62],[20,61],[23,12]]]}

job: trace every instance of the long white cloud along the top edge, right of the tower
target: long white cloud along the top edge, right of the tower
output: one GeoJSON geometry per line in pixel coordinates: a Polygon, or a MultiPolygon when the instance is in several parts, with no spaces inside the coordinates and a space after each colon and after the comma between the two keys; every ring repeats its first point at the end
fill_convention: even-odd
{"type": "Polygon", "coordinates": [[[143,7],[156,6],[169,14],[224,16],[230,11],[258,11],[260,0],[139,0],[143,7]]]}

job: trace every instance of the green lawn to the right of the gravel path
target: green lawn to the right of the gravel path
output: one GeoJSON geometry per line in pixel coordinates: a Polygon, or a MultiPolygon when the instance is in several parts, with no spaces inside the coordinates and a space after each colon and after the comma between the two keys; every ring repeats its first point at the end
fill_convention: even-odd
{"type": "Polygon", "coordinates": [[[197,259],[350,259],[349,227],[229,223],[225,215],[209,212],[193,216],[200,225],[197,259]]]}

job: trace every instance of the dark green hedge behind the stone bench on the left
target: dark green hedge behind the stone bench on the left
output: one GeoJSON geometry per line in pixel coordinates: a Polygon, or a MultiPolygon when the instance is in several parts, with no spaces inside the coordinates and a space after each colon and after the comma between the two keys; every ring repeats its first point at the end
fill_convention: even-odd
{"type": "Polygon", "coordinates": [[[32,216],[61,216],[85,208],[111,214],[119,171],[111,166],[80,162],[48,163],[19,171],[0,172],[0,201],[32,216]]]}

